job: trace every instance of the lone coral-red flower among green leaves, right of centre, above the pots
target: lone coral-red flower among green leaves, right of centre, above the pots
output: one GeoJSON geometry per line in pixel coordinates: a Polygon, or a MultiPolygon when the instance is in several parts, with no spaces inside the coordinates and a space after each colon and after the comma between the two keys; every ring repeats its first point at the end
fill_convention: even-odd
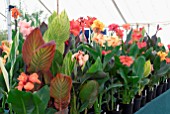
{"type": "Polygon", "coordinates": [[[131,64],[133,64],[134,62],[132,57],[129,57],[129,56],[120,56],[119,59],[123,65],[128,66],[128,67],[130,67],[131,64]]]}

